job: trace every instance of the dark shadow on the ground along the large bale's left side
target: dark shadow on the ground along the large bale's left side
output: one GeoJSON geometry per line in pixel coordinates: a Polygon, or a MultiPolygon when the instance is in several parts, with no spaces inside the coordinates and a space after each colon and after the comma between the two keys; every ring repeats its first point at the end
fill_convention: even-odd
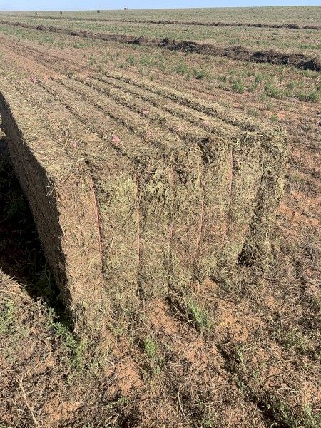
{"type": "Polygon", "coordinates": [[[0,267],[23,285],[32,298],[41,298],[50,307],[60,305],[4,136],[0,137],[0,267]]]}

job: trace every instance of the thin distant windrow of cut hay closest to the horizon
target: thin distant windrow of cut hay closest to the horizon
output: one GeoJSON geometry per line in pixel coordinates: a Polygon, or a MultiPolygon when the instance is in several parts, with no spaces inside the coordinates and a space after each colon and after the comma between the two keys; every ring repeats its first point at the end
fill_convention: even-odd
{"type": "MultiPolygon", "coordinates": [[[[29,15],[34,18],[34,15],[29,15]]],[[[198,26],[227,26],[227,27],[255,27],[262,29],[297,29],[297,30],[321,30],[320,25],[302,25],[302,24],[260,24],[260,23],[244,23],[244,22],[204,22],[204,21],[175,21],[171,19],[165,20],[141,20],[141,19],[95,19],[95,18],[75,18],[70,16],[44,16],[44,20],[58,21],[77,21],[77,22],[125,22],[128,24],[163,24],[163,25],[198,25],[198,26]]]]}

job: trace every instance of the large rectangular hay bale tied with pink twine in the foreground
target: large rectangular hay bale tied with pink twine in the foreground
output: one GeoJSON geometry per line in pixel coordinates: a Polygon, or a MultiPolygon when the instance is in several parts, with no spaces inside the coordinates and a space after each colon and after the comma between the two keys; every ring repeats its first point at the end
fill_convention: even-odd
{"type": "Polygon", "coordinates": [[[11,158],[46,257],[86,325],[270,260],[286,165],[279,129],[121,73],[1,90],[11,158]],[[73,148],[66,130],[53,138],[41,116],[50,108],[70,123],[73,148]]]}

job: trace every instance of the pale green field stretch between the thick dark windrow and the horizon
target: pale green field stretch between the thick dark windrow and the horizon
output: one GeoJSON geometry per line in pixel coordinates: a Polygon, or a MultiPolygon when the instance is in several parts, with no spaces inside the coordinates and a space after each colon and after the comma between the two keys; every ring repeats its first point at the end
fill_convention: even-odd
{"type": "MultiPolygon", "coordinates": [[[[302,9],[303,11],[305,10],[305,8],[302,9]]],[[[214,44],[215,46],[243,46],[250,50],[277,49],[277,51],[281,52],[286,51],[291,54],[311,54],[319,56],[320,58],[320,7],[307,8],[307,11],[310,11],[311,16],[315,18],[315,21],[306,25],[310,25],[311,28],[315,28],[315,26],[317,26],[316,28],[319,28],[319,31],[309,28],[257,28],[246,25],[243,26],[246,23],[253,25],[250,13],[248,14],[250,21],[245,21],[244,23],[241,19],[234,20],[232,23],[233,26],[224,26],[227,24],[230,25],[230,21],[225,21],[223,17],[222,20],[220,20],[219,13],[218,15],[215,15],[215,17],[210,13],[204,13],[203,15],[200,15],[202,16],[200,21],[194,20],[192,24],[189,25],[188,22],[190,21],[184,20],[181,14],[177,14],[179,19],[175,19],[175,11],[171,12],[173,14],[171,20],[168,19],[168,16],[166,17],[164,14],[160,13],[151,13],[146,17],[141,14],[140,19],[137,19],[136,11],[123,11],[122,13],[119,11],[117,13],[106,11],[101,12],[101,14],[76,13],[72,16],[70,13],[60,15],[57,13],[50,14],[44,12],[39,16],[31,14],[3,13],[0,14],[0,19],[12,23],[20,22],[29,25],[53,26],[60,29],[91,31],[103,34],[125,34],[127,36],[136,37],[143,36],[148,39],[164,39],[165,37],[168,37],[170,39],[178,40],[201,41],[203,43],[214,44]],[[214,23],[220,25],[197,25],[200,23],[210,24],[213,22],[212,18],[214,23]],[[224,22],[222,22],[223,20],[224,22]]],[[[287,25],[289,22],[287,21],[287,19],[289,19],[288,17],[291,16],[292,18],[292,15],[287,14],[285,11],[284,16],[280,14],[278,20],[274,21],[272,8],[271,10],[267,8],[267,12],[271,14],[269,22],[272,22],[272,24],[268,23],[265,25],[287,25]]],[[[230,16],[239,17],[239,15],[235,15],[232,12],[230,16]]],[[[307,16],[309,15],[307,14],[307,16]]],[[[296,19],[294,21],[290,21],[290,24],[297,24],[297,26],[299,26],[299,24],[302,24],[302,20],[296,19]]]]}

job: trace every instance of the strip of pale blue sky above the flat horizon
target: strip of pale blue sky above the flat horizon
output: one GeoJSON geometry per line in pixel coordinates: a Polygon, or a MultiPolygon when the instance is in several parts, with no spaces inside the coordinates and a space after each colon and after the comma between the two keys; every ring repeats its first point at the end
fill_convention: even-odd
{"type": "Polygon", "coordinates": [[[94,9],[167,9],[180,7],[321,6],[321,0],[0,0],[0,11],[94,9]]]}

